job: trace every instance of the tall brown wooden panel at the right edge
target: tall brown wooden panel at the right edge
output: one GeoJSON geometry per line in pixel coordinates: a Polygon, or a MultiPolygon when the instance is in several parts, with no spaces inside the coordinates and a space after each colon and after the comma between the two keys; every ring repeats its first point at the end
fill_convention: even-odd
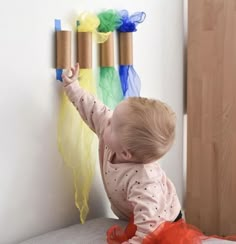
{"type": "Polygon", "coordinates": [[[188,1],[187,222],[236,234],[236,1],[188,1]]]}

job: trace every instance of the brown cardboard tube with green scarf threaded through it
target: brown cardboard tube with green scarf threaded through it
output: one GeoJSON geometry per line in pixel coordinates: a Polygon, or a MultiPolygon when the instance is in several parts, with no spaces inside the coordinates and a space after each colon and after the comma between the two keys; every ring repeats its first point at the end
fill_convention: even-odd
{"type": "Polygon", "coordinates": [[[114,37],[113,33],[109,35],[109,38],[100,46],[100,66],[112,67],[114,66],[114,37]]]}

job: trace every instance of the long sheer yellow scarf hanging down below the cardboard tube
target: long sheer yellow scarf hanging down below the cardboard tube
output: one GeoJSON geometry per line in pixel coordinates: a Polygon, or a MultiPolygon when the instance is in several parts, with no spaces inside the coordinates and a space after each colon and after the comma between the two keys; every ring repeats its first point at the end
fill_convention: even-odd
{"type": "MultiPolygon", "coordinates": [[[[91,69],[81,69],[79,84],[95,94],[95,81],[91,69]]],[[[58,123],[58,146],[63,160],[72,169],[75,205],[84,223],[89,211],[88,198],[97,158],[97,138],[81,119],[78,111],[62,94],[58,123]]]]}

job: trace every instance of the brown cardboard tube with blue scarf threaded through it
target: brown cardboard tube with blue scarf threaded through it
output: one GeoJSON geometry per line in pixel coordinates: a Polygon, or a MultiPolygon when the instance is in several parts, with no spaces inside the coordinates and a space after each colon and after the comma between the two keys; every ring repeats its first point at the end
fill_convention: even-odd
{"type": "Polygon", "coordinates": [[[133,32],[119,32],[119,64],[133,64],[133,32]]]}

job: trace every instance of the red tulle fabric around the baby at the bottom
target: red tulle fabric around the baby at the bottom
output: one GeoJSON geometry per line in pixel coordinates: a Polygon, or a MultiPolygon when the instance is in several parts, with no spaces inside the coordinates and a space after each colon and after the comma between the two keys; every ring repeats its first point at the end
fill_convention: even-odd
{"type": "MultiPolygon", "coordinates": [[[[136,230],[137,227],[134,224],[134,218],[132,216],[125,230],[115,225],[107,231],[107,243],[120,244],[128,241],[135,235],[136,230]]],[[[177,222],[165,222],[161,224],[155,231],[144,238],[142,244],[200,244],[203,240],[209,238],[236,241],[236,235],[224,238],[219,236],[205,236],[198,228],[180,219],[177,222]]]]}

